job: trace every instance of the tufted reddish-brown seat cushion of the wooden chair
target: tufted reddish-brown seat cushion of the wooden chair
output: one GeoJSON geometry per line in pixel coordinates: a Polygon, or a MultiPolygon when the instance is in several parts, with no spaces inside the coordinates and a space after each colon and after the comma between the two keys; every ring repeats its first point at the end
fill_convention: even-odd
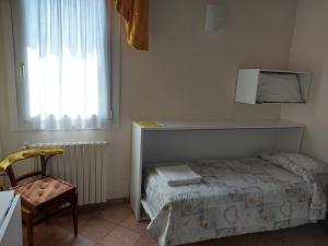
{"type": "Polygon", "coordinates": [[[48,203],[50,200],[58,199],[65,194],[75,191],[75,187],[71,184],[51,176],[15,186],[12,189],[21,195],[22,206],[32,210],[48,203]]]}

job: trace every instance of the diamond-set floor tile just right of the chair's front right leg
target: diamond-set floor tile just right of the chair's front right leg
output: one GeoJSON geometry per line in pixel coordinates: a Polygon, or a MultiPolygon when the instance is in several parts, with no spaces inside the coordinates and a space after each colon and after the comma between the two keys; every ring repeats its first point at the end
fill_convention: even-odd
{"type": "Polygon", "coordinates": [[[79,230],[79,234],[94,243],[97,243],[115,227],[116,225],[114,223],[102,218],[95,218],[83,224],[79,230]]]}

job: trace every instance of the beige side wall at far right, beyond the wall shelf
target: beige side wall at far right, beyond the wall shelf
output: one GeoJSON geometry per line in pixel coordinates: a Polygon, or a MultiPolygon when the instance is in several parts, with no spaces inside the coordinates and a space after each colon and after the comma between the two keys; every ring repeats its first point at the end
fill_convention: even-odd
{"type": "Polygon", "coordinates": [[[306,124],[303,151],[328,163],[328,1],[300,0],[291,69],[314,73],[307,105],[286,105],[281,117],[306,124]]]}

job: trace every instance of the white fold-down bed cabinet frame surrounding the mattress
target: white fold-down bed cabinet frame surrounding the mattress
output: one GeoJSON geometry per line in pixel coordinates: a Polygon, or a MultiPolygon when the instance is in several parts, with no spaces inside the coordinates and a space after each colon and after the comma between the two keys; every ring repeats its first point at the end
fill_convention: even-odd
{"type": "Polygon", "coordinates": [[[303,130],[303,125],[282,120],[133,122],[130,201],[137,220],[147,218],[141,206],[144,164],[249,157],[268,150],[298,152],[303,130]]]}

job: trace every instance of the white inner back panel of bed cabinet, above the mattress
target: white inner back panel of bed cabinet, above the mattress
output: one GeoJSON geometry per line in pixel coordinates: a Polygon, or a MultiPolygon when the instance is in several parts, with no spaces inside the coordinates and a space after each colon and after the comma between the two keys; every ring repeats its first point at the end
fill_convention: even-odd
{"type": "Polygon", "coordinates": [[[301,128],[153,130],[143,134],[143,163],[256,156],[300,151],[301,128]]]}

